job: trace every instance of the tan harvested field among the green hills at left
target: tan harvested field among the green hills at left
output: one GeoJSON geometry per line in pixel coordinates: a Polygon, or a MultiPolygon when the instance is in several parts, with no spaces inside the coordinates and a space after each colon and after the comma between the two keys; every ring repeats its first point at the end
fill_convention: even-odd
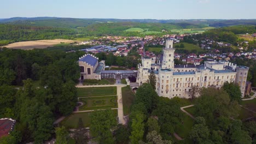
{"type": "Polygon", "coordinates": [[[45,49],[50,46],[58,44],[70,44],[74,43],[74,40],[68,39],[53,39],[53,40],[34,40],[34,41],[21,41],[3,47],[10,49],[22,49],[22,50],[32,50],[32,49],[45,49]]]}

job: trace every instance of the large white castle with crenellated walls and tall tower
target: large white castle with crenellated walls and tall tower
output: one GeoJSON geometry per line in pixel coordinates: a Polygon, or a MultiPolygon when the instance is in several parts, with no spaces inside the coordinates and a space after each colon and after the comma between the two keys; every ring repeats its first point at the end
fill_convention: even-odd
{"type": "MultiPolygon", "coordinates": [[[[220,88],[224,82],[238,83],[242,97],[246,92],[248,67],[236,66],[225,61],[206,61],[201,65],[174,65],[173,40],[166,40],[163,49],[164,56],[158,63],[152,59],[142,57],[142,64],[138,64],[137,82],[139,86],[146,83],[150,73],[156,76],[155,91],[159,96],[173,98],[191,98],[191,91],[202,87],[220,88]]],[[[195,92],[198,97],[199,93],[195,92]]]]}

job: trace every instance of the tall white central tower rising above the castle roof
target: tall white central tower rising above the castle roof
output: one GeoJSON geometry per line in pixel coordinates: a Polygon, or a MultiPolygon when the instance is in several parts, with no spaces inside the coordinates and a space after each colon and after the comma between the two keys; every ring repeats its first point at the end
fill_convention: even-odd
{"type": "Polygon", "coordinates": [[[164,51],[164,57],[162,59],[162,68],[168,68],[173,69],[174,68],[174,51],[173,49],[173,40],[166,39],[165,48],[164,51]]]}

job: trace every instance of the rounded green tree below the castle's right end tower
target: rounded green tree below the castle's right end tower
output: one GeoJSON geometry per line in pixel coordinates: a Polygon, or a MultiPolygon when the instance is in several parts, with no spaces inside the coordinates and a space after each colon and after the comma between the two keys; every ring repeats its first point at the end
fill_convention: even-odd
{"type": "Polygon", "coordinates": [[[222,88],[229,94],[231,100],[241,102],[241,90],[237,84],[225,82],[222,88]]]}

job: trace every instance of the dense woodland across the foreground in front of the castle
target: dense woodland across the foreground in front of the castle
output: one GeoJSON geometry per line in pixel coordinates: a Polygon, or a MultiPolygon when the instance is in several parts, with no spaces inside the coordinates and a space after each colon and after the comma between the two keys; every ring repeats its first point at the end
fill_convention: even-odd
{"type": "MultiPolygon", "coordinates": [[[[98,143],[255,143],[256,122],[237,119],[241,91],[234,83],[223,88],[202,88],[194,98],[195,119],[189,136],[176,141],[172,136],[183,125],[180,110],[187,103],[179,98],[159,97],[150,83],[137,89],[127,128],[118,125],[112,111],[97,111],[90,126],[98,143]],[[114,133],[111,133],[114,130],[114,133]],[[98,133],[101,131],[101,133],[98,133]]],[[[153,82],[154,83],[154,82],[153,82]]]]}

